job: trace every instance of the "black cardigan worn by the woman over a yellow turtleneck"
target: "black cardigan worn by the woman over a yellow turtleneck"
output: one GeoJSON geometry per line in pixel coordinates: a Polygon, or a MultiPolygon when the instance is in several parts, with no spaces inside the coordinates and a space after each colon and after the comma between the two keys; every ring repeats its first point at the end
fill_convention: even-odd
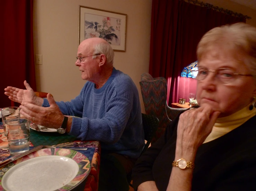
{"type": "MultiPolygon", "coordinates": [[[[136,162],[135,189],[145,181],[155,181],[159,191],[167,189],[175,158],[178,118],[136,162]]],[[[256,116],[198,148],[192,190],[256,190],[256,116]]]]}

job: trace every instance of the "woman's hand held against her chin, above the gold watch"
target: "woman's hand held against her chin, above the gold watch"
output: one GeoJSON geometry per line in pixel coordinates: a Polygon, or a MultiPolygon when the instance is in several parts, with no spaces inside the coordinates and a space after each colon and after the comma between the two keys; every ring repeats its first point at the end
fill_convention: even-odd
{"type": "Polygon", "coordinates": [[[214,111],[210,105],[182,113],[178,122],[176,157],[188,155],[190,159],[186,160],[194,161],[197,148],[211,133],[219,114],[220,112],[214,111]]]}

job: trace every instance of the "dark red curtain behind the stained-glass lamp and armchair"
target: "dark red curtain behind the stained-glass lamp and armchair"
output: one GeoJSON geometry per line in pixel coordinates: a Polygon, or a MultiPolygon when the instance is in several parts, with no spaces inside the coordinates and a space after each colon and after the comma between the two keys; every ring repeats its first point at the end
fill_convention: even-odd
{"type": "Polygon", "coordinates": [[[196,80],[180,77],[196,61],[196,47],[203,34],[224,24],[245,22],[183,0],[153,0],[149,73],[167,80],[167,103],[196,93],[196,80]]]}

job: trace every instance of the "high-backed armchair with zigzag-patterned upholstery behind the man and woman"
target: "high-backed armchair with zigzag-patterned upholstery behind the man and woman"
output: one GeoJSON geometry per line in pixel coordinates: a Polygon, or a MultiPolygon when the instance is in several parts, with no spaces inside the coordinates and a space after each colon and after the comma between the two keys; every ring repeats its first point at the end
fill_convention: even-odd
{"type": "Polygon", "coordinates": [[[167,82],[164,77],[153,78],[149,73],[143,73],[140,88],[146,114],[159,119],[158,129],[152,139],[153,143],[164,134],[171,120],[186,109],[170,108],[167,105],[167,82]]]}

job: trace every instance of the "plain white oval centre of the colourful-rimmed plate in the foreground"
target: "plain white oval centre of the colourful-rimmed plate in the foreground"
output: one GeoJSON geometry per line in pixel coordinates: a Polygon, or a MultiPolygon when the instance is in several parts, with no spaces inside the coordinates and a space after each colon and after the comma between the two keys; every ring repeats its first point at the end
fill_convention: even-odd
{"type": "Polygon", "coordinates": [[[62,156],[43,156],[15,165],[2,179],[5,190],[56,190],[69,183],[78,172],[77,163],[62,156]]]}

